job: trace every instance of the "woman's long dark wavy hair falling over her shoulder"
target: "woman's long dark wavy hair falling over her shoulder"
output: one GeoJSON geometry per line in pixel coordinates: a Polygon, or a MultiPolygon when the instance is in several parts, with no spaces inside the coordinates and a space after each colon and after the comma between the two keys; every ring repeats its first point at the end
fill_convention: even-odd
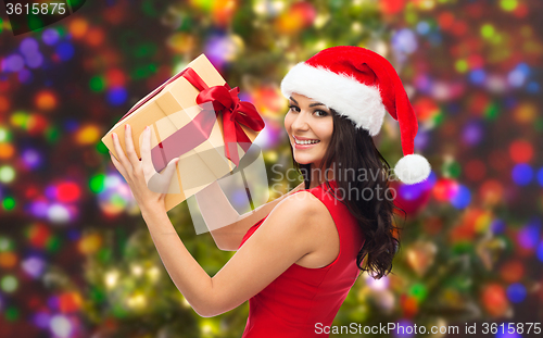
{"type": "MultiPolygon", "coordinates": [[[[358,221],[366,239],[356,258],[356,265],[379,279],[390,273],[392,260],[400,249],[400,240],[394,236],[399,227],[393,224],[392,218],[394,209],[402,209],[394,205],[389,189],[390,165],[377,150],[374,139],[366,129],[355,128],[349,118],[333,110],[330,111],[333,132],[320,170],[326,172],[325,168],[331,166],[336,168],[337,189],[331,188],[324,175],[326,185],[332,189],[331,191],[342,192],[339,196],[334,193],[334,198],[346,204],[351,214],[358,221]],[[337,171],[341,173],[338,175],[337,171]],[[358,179],[364,172],[367,179],[358,179]],[[372,198],[365,199],[366,191],[370,191],[372,198]],[[363,265],[365,258],[367,258],[366,264],[363,265]]],[[[293,153],[292,161],[304,177],[305,189],[308,189],[311,164],[299,164],[293,153]]]]}

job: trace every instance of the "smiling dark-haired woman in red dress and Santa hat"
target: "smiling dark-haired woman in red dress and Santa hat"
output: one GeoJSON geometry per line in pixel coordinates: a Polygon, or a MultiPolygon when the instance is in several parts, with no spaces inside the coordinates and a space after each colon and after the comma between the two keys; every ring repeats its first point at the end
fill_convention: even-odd
{"type": "MultiPolygon", "coordinates": [[[[172,279],[197,313],[214,316],[249,300],[243,337],[323,337],[359,271],[382,277],[396,251],[389,166],[371,139],[386,112],[400,122],[405,155],[394,173],[416,183],[428,177],[430,165],[413,154],[417,121],[384,58],[359,47],[329,48],[294,66],[281,90],[290,101],[285,127],[305,189],[299,186],[243,216],[231,212],[217,184],[199,195],[206,222],[220,217],[209,212],[211,206],[230,210],[236,221],[212,231],[219,248],[237,250],[213,277],[177,236],[164,196],[148,189],[149,128],[141,162],[129,130],[126,155],[113,136],[119,160],[112,161],[129,184],[172,279]]],[[[172,177],[173,164],[162,175],[172,177]]]]}

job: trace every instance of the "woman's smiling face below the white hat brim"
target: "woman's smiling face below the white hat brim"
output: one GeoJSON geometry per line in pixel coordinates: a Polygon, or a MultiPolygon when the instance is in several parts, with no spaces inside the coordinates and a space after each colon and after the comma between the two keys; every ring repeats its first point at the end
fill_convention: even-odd
{"type": "Polygon", "coordinates": [[[290,97],[289,104],[285,128],[294,160],[320,167],[333,133],[332,113],[325,104],[295,92],[290,97]]]}

